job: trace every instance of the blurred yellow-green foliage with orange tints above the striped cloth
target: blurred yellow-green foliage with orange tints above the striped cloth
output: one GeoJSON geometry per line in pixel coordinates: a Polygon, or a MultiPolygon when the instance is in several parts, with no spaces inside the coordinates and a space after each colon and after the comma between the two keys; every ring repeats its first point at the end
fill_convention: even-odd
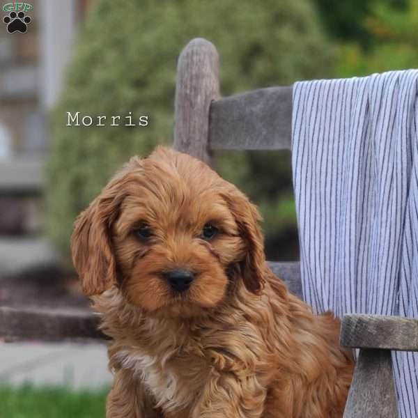
{"type": "Polygon", "coordinates": [[[405,8],[376,3],[362,24],[371,46],[364,49],[355,42],[343,45],[336,68],[339,76],[417,68],[418,1],[407,1],[405,8]]]}

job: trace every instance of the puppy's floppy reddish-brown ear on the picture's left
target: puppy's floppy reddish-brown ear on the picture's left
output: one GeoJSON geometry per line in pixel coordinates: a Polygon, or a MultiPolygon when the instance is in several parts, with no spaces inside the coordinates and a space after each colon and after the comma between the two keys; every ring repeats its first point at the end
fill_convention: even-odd
{"type": "Polygon", "coordinates": [[[75,221],[71,235],[72,263],[86,295],[98,295],[117,284],[111,226],[126,196],[128,173],[139,167],[140,162],[133,157],[75,221]]]}

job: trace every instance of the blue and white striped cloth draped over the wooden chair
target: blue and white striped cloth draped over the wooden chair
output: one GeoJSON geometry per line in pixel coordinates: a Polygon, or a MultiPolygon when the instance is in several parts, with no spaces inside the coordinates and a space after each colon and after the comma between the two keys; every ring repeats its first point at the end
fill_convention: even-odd
{"type": "MultiPolygon", "coordinates": [[[[417,96],[418,70],[293,86],[302,286],[316,312],[418,318],[417,96]]],[[[392,358],[400,415],[417,418],[418,354],[392,358]]]]}

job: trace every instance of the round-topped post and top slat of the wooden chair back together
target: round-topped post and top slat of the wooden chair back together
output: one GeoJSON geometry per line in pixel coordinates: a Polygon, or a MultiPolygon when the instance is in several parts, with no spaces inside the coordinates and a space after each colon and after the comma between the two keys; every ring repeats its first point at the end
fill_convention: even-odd
{"type": "Polygon", "coordinates": [[[219,57],[194,39],[178,59],[174,148],[210,162],[210,150],[291,149],[291,86],[221,98],[219,57]]]}

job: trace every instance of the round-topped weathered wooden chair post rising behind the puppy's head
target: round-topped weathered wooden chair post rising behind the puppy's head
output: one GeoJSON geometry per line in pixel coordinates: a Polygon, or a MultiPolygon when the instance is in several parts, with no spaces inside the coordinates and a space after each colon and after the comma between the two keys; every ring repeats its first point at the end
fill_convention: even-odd
{"type": "Polygon", "coordinates": [[[190,41],[178,59],[173,148],[210,164],[210,103],[219,98],[219,57],[203,38],[190,41]]]}

